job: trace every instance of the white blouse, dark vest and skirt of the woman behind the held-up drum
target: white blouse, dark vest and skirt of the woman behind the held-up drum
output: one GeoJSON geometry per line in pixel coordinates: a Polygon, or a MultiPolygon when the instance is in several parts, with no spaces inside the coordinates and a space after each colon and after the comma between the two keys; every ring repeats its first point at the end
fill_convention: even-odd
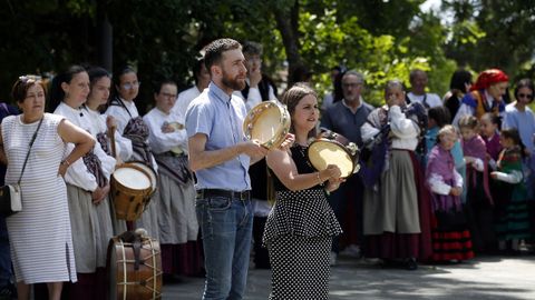
{"type": "MultiPolygon", "coordinates": [[[[140,161],[157,171],[158,167],[148,144],[149,129],[139,116],[134,101],[115,98],[105,114],[114,116],[117,121],[117,132],[132,141],[134,153],[128,161],[140,161]]],[[[142,217],[134,221],[133,229],[144,228],[150,238],[159,240],[158,214],[157,202],[150,200],[142,217]]]]}

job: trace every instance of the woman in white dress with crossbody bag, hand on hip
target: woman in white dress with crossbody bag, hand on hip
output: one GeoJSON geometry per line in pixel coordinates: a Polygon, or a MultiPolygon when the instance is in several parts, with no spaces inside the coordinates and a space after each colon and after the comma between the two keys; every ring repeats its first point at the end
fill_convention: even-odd
{"type": "Polygon", "coordinates": [[[22,114],[2,120],[0,160],[8,164],[6,183],[20,180],[22,194],[22,211],[7,218],[18,298],[30,299],[30,284],[46,282],[49,299],[59,300],[62,282],[77,281],[62,177],[95,140],[65,117],[45,113],[45,91],[38,77],[14,83],[12,97],[22,114]]]}

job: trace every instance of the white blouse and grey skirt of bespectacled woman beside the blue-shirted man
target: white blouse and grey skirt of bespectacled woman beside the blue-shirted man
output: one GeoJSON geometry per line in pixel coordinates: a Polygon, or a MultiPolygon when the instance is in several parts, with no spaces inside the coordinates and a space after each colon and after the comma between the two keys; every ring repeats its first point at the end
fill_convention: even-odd
{"type": "Polygon", "coordinates": [[[195,187],[187,162],[187,134],[184,114],[165,113],[154,108],[143,117],[158,163],[158,189],[153,201],[158,204],[162,267],[165,274],[198,274],[202,256],[195,212],[195,187]],[[169,124],[174,132],[163,132],[169,124]]]}

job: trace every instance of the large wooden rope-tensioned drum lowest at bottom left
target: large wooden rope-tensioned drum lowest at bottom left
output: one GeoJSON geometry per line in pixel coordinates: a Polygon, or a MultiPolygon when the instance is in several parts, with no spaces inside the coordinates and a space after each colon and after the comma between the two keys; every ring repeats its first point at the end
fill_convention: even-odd
{"type": "Polygon", "coordinates": [[[152,238],[140,240],[139,269],[135,270],[133,243],[118,237],[109,240],[107,269],[109,299],[162,299],[162,257],[159,243],[152,238]]]}

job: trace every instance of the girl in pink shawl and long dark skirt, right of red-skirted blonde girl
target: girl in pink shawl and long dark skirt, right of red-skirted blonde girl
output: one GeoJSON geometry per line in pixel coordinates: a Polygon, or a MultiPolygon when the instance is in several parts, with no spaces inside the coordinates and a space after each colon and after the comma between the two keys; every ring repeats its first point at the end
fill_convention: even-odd
{"type": "Polygon", "coordinates": [[[466,217],[470,229],[473,248],[476,253],[495,250],[493,230],[493,198],[488,184],[487,149],[478,134],[479,122],[474,116],[459,120],[463,136],[463,152],[466,162],[466,217]]]}

